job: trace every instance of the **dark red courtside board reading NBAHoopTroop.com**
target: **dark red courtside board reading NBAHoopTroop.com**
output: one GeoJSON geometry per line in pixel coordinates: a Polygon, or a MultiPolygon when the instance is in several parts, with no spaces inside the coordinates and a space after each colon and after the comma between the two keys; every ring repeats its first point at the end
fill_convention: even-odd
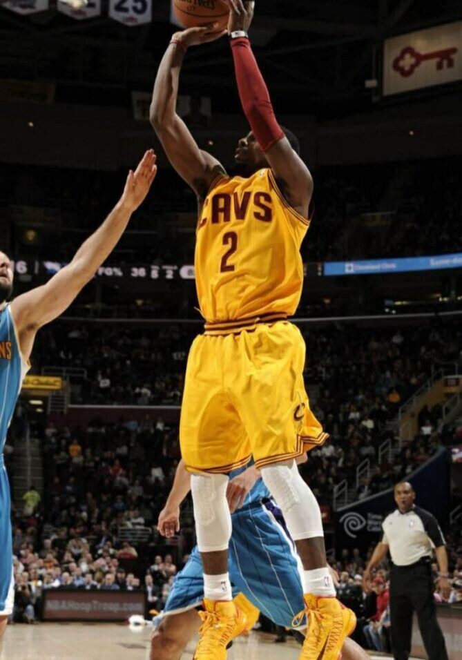
{"type": "Polygon", "coordinates": [[[144,617],[141,591],[86,591],[52,589],[45,593],[45,621],[126,621],[144,617]]]}

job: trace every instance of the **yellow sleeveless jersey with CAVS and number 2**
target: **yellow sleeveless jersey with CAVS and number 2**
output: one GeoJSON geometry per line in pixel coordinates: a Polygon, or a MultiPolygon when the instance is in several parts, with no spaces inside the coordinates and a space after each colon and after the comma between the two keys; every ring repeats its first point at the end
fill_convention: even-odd
{"type": "Polygon", "coordinates": [[[300,246],[309,220],[282,196],[270,169],[221,176],[198,222],[195,281],[207,324],[293,315],[300,301],[300,246]]]}

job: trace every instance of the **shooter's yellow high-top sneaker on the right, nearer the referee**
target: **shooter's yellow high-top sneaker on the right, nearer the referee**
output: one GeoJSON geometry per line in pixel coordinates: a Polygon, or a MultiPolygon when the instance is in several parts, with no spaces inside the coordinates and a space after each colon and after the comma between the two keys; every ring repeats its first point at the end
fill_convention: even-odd
{"type": "Polygon", "coordinates": [[[292,625],[296,628],[307,617],[307,637],[300,660],[341,660],[345,639],[356,627],[356,615],[336,598],[305,594],[305,605],[292,625]]]}

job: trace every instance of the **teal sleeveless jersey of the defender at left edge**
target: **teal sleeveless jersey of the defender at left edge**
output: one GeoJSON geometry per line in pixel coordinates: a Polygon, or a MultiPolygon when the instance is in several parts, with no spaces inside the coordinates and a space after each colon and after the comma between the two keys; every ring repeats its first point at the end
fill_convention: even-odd
{"type": "Polygon", "coordinates": [[[28,370],[19,349],[15,322],[8,304],[0,312],[0,452],[3,454],[6,434],[28,370]]]}

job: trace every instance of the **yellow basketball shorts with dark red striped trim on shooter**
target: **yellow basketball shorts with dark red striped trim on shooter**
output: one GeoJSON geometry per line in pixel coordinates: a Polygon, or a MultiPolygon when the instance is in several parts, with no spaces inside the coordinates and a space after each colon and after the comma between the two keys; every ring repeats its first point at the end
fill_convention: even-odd
{"type": "Polygon", "coordinates": [[[305,342],[289,322],[200,335],[189,353],[180,420],[190,472],[227,473],[301,456],[327,434],[309,408],[305,342]]]}

